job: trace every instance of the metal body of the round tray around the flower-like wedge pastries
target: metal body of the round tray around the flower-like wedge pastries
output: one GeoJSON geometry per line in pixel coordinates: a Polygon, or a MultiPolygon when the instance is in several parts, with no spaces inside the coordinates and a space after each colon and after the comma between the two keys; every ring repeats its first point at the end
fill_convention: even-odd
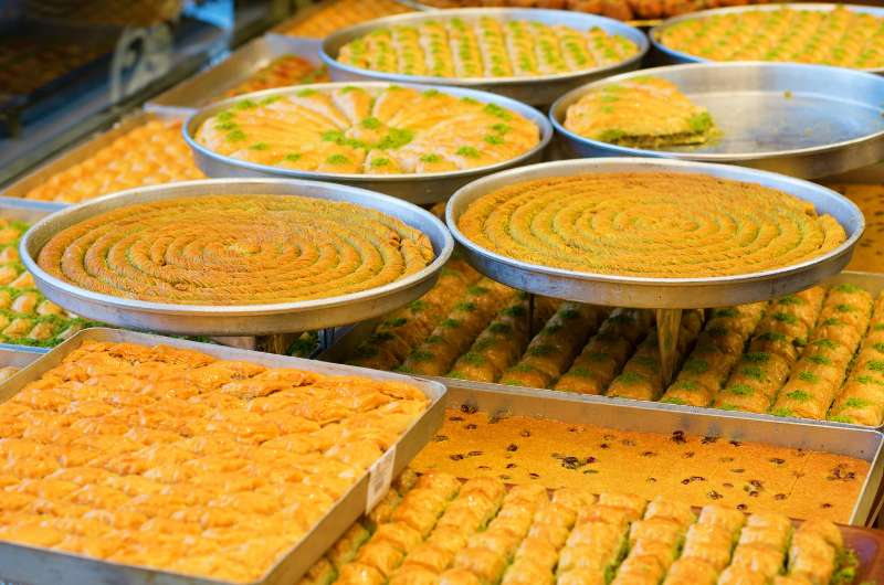
{"type": "Polygon", "coordinates": [[[527,118],[537,125],[540,135],[540,141],[534,148],[528,150],[522,156],[509,159],[497,164],[490,164],[487,167],[480,167],[476,169],[465,169],[453,172],[428,172],[428,173],[410,173],[410,174],[352,174],[352,173],[329,173],[329,172],[315,172],[315,171],[299,171],[296,169],[283,169],[270,164],[257,164],[245,160],[239,160],[232,157],[224,157],[204,146],[198,143],[193,138],[197,129],[209,117],[218,114],[221,110],[229,108],[232,104],[243,99],[262,99],[269,96],[291,95],[305,89],[313,89],[317,92],[330,92],[338,87],[356,86],[366,89],[377,89],[389,87],[390,84],[386,82],[361,82],[361,83],[320,83],[314,85],[299,85],[297,87],[283,87],[277,89],[265,89],[263,92],[255,92],[246,94],[223,102],[217,102],[207,106],[187,119],[183,125],[185,140],[190,149],[193,151],[193,158],[197,166],[208,177],[212,178],[290,178],[290,179],[311,179],[314,181],[330,181],[337,184],[345,184],[351,187],[359,187],[362,189],[370,189],[379,193],[385,193],[398,199],[417,203],[418,205],[425,205],[429,203],[436,203],[445,201],[451,196],[454,191],[465,185],[470,181],[494,173],[504,169],[511,169],[522,164],[529,164],[532,162],[539,162],[543,159],[544,149],[552,138],[552,126],[549,119],[541,113],[537,111],[530,106],[526,106],[514,99],[509,99],[499,95],[490,94],[486,92],[477,92],[474,89],[465,89],[460,87],[443,87],[431,85],[415,85],[415,84],[399,84],[402,87],[413,87],[415,89],[438,89],[445,94],[454,95],[457,97],[471,97],[485,104],[496,104],[515,111],[519,116],[527,118]]]}

